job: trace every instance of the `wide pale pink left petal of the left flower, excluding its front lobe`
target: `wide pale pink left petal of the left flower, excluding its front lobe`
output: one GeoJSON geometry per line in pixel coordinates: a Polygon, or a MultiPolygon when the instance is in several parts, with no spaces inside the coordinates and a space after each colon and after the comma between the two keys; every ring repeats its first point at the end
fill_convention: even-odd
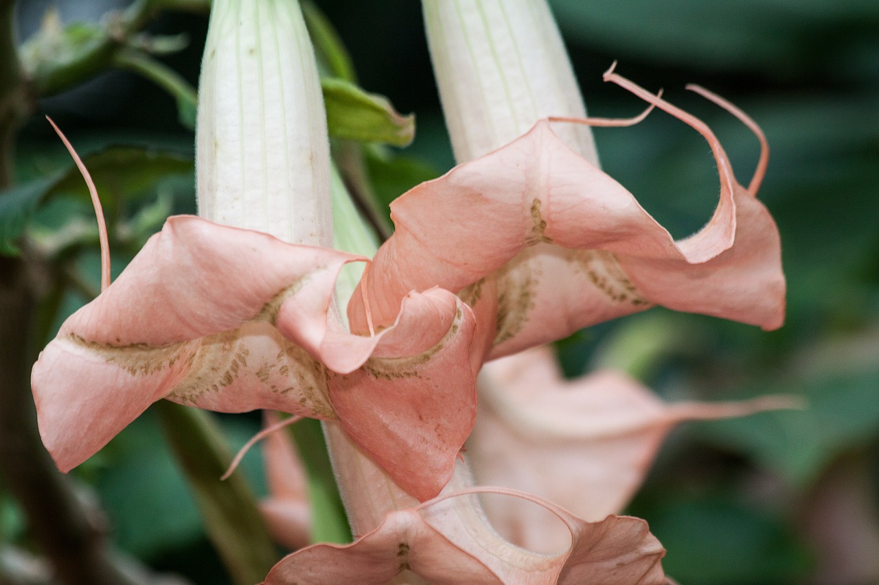
{"type": "Polygon", "coordinates": [[[326,329],[338,271],[358,259],[195,217],[168,220],[33,366],[40,433],[59,468],[91,457],[169,394],[223,411],[331,416],[325,391],[291,382],[314,378],[315,359],[272,327],[274,307],[301,305],[297,293],[307,291],[314,314],[297,334],[313,339],[316,323],[326,329]],[[268,383],[254,384],[260,378],[268,383]]]}

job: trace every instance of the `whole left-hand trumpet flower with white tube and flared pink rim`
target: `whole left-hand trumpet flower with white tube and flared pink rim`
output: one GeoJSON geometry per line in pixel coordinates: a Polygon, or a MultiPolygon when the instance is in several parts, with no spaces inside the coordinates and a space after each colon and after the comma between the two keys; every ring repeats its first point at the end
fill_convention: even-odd
{"type": "Polygon", "coordinates": [[[55,462],[78,465],[167,398],[338,421],[412,495],[437,495],[476,414],[473,316],[433,288],[407,296],[387,329],[345,330],[334,285],[365,258],[301,245],[332,231],[298,4],[214,2],[197,134],[200,212],[229,225],[168,220],[40,354],[33,394],[55,462]]]}

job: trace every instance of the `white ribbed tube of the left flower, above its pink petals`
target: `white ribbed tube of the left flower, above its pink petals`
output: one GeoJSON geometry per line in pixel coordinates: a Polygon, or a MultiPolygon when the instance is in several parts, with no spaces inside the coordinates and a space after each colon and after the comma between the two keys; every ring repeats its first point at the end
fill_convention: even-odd
{"type": "Polygon", "coordinates": [[[196,144],[201,217],[331,247],[326,114],[297,2],[214,0],[196,144]]]}

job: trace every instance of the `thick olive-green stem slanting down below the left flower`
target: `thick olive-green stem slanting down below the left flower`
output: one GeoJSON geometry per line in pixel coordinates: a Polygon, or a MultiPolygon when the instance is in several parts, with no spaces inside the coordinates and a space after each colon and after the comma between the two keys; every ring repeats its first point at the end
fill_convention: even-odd
{"type": "Polygon", "coordinates": [[[220,476],[232,456],[211,415],[170,401],[156,402],[165,436],[195,493],[208,537],[237,585],[265,579],[277,562],[275,546],[242,472],[220,476]]]}

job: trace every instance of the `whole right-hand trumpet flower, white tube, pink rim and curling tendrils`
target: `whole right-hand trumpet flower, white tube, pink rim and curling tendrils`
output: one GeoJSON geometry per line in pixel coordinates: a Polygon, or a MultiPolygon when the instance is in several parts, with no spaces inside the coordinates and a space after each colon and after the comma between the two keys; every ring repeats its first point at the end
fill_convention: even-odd
{"type": "MultiPolygon", "coordinates": [[[[692,126],[715,156],[716,211],[699,232],[675,241],[598,168],[592,142],[570,135],[579,129],[570,118],[582,109],[570,97],[570,66],[544,2],[427,0],[425,17],[461,164],[391,205],[395,234],[362,284],[376,300],[375,322],[390,322],[409,290],[439,285],[469,301],[490,358],[657,304],[781,326],[778,228],[756,199],[766,141],[743,112],[695,88],[758,135],[763,149],[747,187],[701,120],[613,70],[605,74],[692,126]],[[543,42],[526,44],[534,39],[543,42]]],[[[352,327],[362,329],[360,308],[350,313],[352,327]]]]}

